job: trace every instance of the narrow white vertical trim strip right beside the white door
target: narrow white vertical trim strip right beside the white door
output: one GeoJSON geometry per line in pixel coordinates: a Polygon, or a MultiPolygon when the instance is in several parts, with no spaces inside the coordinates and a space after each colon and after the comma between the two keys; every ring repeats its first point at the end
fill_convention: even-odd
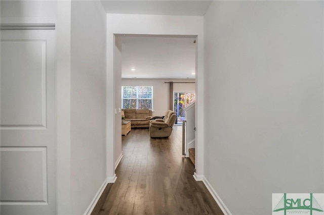
{"type": "Polygon", "coordinates": [[[71,1],[58,1],[56,22],[57,213],[71,214],[71,1]]]}

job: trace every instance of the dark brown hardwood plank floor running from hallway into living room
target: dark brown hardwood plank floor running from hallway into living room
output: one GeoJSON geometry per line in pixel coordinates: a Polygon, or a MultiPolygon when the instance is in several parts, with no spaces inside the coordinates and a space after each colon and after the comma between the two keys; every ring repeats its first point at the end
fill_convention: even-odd
{"type": "Polygon", "coordinates": [[[148,129],[132,129],[122,141],[117,180],[107,185],[92,215],[223,214],[204,183],[192,177],[189,158],[181,156],[181,126],[156,139],[148,129]]]}

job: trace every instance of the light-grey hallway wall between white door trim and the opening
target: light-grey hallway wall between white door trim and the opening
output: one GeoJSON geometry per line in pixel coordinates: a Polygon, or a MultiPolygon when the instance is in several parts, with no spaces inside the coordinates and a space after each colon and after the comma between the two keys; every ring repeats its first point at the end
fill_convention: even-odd
{"type": "Polygon", "coordinates": [[[106,181],[106,14],[99,1],[71,2],[71,214],[106,181]]]}

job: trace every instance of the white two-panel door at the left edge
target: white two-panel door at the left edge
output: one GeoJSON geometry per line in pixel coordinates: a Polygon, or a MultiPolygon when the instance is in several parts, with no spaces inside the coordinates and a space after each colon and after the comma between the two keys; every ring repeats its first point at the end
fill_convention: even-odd
{"type": "Polygon", "coordinates": [[[55,30],[2,30],[0,49],[1,214],[55,214],[55,30]]]}

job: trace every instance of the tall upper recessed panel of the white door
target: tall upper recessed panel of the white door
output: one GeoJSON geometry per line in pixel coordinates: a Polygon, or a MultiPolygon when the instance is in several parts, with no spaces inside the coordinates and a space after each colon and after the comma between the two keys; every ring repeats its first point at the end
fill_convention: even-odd
{"type": "Polygon", "coordinates": [[[2,40],[1,56],[1,126],[45,127],[46,40],[2,40]]]}

